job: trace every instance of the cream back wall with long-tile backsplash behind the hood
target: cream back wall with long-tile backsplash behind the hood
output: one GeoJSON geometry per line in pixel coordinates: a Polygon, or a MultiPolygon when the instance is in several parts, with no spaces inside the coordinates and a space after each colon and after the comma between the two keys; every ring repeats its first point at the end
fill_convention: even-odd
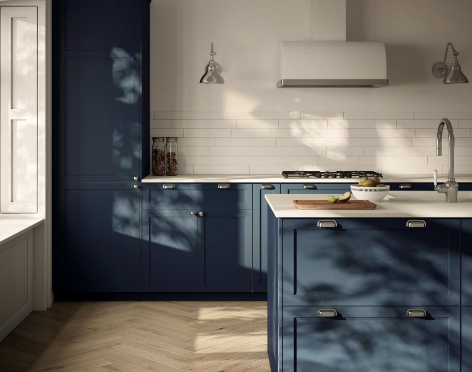
{"type": "Polygon", "coordinates": [[[179,172],[447,173],[446,117],[456,173],[472,173],[472,84],[431,74],[452,41],[472,81],[472,1],[348,0],[347,39],[385,43],[390,85],[277,89],[279,42],[316,37],[312,13],[311,0],[151,3],[151,136],[179,137],[179,172]],[[211,41],[226,84],[198,84],[211,41]]]}

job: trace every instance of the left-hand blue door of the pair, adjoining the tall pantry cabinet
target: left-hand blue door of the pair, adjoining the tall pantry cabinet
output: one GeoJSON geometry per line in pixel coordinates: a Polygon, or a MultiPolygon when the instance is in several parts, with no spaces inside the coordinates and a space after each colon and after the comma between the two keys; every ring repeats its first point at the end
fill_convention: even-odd
{"type": "Polygon", "coordinates": [[[197,217],[143,211],[143,291],[197,291],[197,217]]]}

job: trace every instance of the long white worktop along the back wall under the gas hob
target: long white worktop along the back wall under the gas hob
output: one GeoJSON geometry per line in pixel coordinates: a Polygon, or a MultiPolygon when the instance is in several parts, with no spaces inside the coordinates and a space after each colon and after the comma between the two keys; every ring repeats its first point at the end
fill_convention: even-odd
{"type": "MultiPolygon", "coordinates": [[[[178,176],[148,176],[145,183],[248,183],[248,184],[304,184],[304,183],[350,183],[358,179],[350,178],[284,178],[280,174],[182,174],[178,176]]],[[[445,182],[447,176],[440,176],[439,182],[445,182]]],[[[472,175],[456,176],[456,181],[471,182],[472,175]]],[[[383,182],[425,182],[432,183],[433,175],[384,175],[383,182]]]]}

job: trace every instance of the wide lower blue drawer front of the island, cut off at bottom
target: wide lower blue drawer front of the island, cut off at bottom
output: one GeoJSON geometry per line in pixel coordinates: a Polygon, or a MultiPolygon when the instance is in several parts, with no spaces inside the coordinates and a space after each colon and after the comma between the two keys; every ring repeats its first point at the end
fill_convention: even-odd
{"type": "Polygon", "coordinates": [[[334,307],[338,317],[324,318],[284,307],[282,371],[459,372],[460,308],[423,308],[425,318],[409,307],[334,307]]]}

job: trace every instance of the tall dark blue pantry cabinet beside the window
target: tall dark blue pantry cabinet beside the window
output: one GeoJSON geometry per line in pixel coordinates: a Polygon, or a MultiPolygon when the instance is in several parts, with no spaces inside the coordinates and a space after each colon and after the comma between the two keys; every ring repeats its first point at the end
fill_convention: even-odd
{"type": "Polygon", "coordinates": [[[141,290],[149,0],[53,5],[53,290],[141,290]]]}

